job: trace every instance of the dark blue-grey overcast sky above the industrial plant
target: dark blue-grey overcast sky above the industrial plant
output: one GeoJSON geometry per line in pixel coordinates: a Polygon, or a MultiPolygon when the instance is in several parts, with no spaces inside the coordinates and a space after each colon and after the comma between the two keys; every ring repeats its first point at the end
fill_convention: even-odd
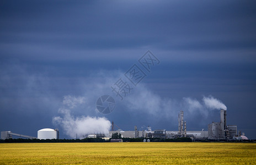
{"type": "Polygon", "coordinates": [[[0,130],[37,136],[75,118],[105,117],[123,130],[188,130],[220,120],[205,97],[227,106],[227,123],[256,139],[254,1],[1,1],[0,130]],[[120,101],[111,85],[150,50],[160,61],[120,101]],[[116,107],[103,115],[99,96],[116,107]],[[71,100],[72,100],[71,99],[71,100]],[[188,99],[195,104],[188,105],[188,99]],[[73,100],[73,101],[74,101],[73,100]],[[79,99],[78,99],[79,100],[79,99]],[[69,107],[70,108],[70,107],[69,107]]]}

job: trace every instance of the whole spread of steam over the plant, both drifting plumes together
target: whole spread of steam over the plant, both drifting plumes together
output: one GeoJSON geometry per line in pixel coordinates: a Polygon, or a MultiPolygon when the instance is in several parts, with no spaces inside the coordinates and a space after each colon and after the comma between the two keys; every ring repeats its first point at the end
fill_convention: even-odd
{"type": "MultiPolygon", "coordinates": [[[[61,115],[55,117],[53,122],[61,125],[65,133],[71,138],[74,138],[76,134],[79,138],[83,138],[86,134],[108,133],[111,127],[110,121],[104,117],[92,117],[102,116],[102,114],[95,109],[95,101],[101,95],[113,96],[116,104],[121,107],[119,109],[116,108],[114,112],[112,112],[111,117],[115,118],[117,117],[116,114],[120,114],[120,112],[116,113],[116,111],[124,111],[129,113],[131,117],[143,116],[143,118],[146,118],[145,122],[148,121],[147,119],[153,118],[157,121],[168,120],[176,124],[178,111],[183,110],[186,116],[189,116],[191,120],[201,116],[202,121],[200,120],[200,124],[205,125],[206,122],[209,122],[206,118],[211,111],[221,108],[227,109],[220,100],[213,96],[204,96],[201,100],[190,97],[184,97],[182,100],[167,97],[163,98],[148,89],[143,83],[137,85],[123,101],[120,101],[119,97],[116,97],[111,91],[110,86],[122,76],[122,72],[114,72],[111,74],[100,72],[88,79],[86,87],[84,87],[85,92],[83,96],[65,96],[63,98],[62,107],[58,109],[61,115]],[[85,109],[85,107],[87,108],[85,109]],[[84,114],[86,114],[87,117],[83,116],[84,114]],[[76,115],[76,117],[74,115],[76,115]]],[[[129,122],[130,119],[127,118],[126,120],[129,122]]]]}

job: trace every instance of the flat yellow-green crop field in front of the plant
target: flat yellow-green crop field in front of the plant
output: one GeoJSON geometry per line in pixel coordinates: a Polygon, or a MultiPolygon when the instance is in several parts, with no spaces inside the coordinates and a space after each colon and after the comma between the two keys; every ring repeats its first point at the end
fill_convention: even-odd
{"type": "Polygon", "coordinates": [[[0,164],[256,164],[256,144],[221,142],[0,144],[0,164]]]}

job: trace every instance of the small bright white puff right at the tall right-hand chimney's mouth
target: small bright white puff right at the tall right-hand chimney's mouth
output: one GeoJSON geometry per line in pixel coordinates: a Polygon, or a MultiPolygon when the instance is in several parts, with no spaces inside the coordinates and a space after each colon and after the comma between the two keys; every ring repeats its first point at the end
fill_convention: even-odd
{"type": "Polygon", "coordinates": [[[212,96],[204,97],[202,98],[202,101],[204,101],[205,106],[210,109],[224,109],[227,110],[227,107],[220,101],[217,100],[217,98],[214,98],[212,96]]]}

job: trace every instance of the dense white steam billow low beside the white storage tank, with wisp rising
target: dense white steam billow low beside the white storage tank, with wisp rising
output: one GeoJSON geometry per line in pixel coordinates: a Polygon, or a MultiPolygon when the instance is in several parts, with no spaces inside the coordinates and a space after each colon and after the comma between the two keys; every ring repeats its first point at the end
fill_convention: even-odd
{"type": "Polygon", "coordinates": [[[76,135],[78,138],[87,138],[88,134],[108,134],[111,127],[111,123],[106,118],[101,117],[74,117],[71,114],[71,109],[84,103],[84,97],[72,97],[65,96],[63,99],[64,107],[58,110],[61,116],[54,117],[53,123],[61,125],[65,133],[74,138],[76,135]]]}

